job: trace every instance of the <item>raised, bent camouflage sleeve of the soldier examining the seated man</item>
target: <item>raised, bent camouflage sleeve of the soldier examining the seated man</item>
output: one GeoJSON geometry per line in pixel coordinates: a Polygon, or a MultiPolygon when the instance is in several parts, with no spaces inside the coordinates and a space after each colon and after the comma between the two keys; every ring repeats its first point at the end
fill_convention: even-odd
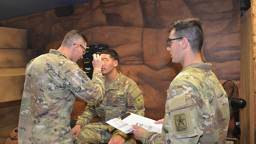
{"type": "Polygon", "coordinates": [[[97,103],[101,100],[105,94],[101,71],[94,71],[93,79],[90,80],[76,63],[60,61],[59,67],[64,75],[66,89],[69,89],[76,97],[87,103],[97,103]]]}

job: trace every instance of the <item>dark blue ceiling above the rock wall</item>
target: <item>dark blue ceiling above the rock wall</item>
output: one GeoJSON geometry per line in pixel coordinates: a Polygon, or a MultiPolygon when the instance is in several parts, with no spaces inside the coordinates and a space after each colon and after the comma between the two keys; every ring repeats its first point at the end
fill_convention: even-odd
{"type": "Polygon", "coordinates": [[[93,0],[0,0],[0,20],[93,0]]]}

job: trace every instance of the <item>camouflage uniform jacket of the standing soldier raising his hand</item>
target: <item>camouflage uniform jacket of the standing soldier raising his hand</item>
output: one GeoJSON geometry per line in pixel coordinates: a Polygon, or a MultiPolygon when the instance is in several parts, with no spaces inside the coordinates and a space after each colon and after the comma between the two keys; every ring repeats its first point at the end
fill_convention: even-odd
{"type": "Polygon", "coordinates": [[[50,50],[32,59],[26,66],[18,142],[73,143],[70,114],[76,97],[96,103],[104,93],[100,71],[94,71],[91,81],[62,52],[50,50]]]}

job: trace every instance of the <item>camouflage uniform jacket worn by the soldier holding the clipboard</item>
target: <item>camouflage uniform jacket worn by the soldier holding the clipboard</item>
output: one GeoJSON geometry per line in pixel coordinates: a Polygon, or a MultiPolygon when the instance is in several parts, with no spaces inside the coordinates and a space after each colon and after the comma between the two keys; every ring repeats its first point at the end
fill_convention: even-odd
{"type": "Polygon", "coordinates": [[[173,79],[165,104],[162,134],[145,132],[144,144],[223,144],[230,120],[227,94],[212,64],[186,66],[173,79]]]}

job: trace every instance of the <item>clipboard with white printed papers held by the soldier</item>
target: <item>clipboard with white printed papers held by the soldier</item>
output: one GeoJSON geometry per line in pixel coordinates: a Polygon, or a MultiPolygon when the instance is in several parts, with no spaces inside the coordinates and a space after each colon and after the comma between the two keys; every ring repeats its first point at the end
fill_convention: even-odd
{"type": "Polygon", "coordinates": [[[108,120],[106,123],[119,129],[120,131],[126,134],[135,130],[132,127],[132,125],[138,125],[148,131],[161,133],[162,124],[155,124],[154,122],[156,122],[156,120],[139,116],[138,114],[124,112],[123,110],[119,110],[119,111],[120,111],[120,115],[118,118],[113,118],[111,120],[108,120]]]}

